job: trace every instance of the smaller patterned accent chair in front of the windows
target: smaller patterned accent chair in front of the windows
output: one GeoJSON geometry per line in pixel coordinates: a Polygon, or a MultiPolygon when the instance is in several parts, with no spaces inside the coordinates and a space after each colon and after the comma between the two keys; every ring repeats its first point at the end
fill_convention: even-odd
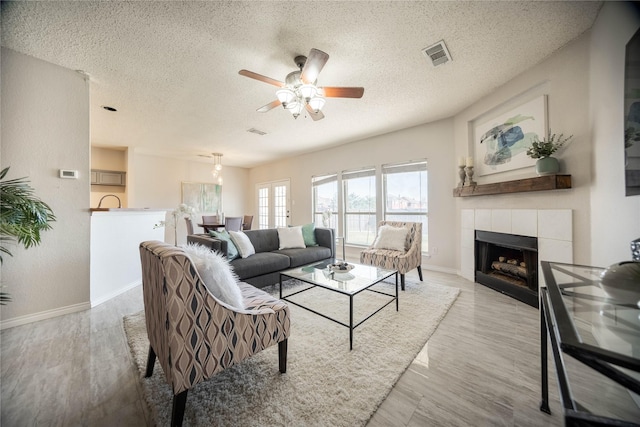
{"type": "Polygon", "coordinates": [[[409,229],[407,241],[405,242],[406,250],[402,252],[391,249],[377,249],[370,246],[360,252],[360,264],[398,270],[400,284],[404,291],[404,275],[414,268],[418,269],[418,275],[422,282],[422,223],[380,221],[378,229],[383,225],[409,229]]]}

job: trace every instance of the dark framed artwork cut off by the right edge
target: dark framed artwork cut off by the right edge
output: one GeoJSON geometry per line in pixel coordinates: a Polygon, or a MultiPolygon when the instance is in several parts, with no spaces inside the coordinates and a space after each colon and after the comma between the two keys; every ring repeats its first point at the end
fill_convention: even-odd
{"type": "Polygon", "coordinates": [[[640,195],[640,30],[627,43],[624,72],[624,186],[640,195]]]}

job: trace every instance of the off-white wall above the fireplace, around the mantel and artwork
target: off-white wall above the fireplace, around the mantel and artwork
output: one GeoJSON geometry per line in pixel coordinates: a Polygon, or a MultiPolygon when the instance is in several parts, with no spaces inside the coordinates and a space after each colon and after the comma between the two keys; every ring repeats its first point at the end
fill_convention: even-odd
{"type": "MultiPolygon", "coordinates": [[[[574,261],[585,264],[591,261],[589,197],[593,175],[593,144],[588,115],[588,67],[589,35],[585,34],[539,65],[505,85],[491,90],[485,98],[455,117],[455,154],[474,156],[470,136],[474,121],[482,122],[487,115],[492,116],[532,98],[547,95],[548,127],[554,133],[574,135],[571,144],[557,155],[560,159],[560,173],[572,175],[573,188],[561,191],[460,197],[456,198],[457,213],[460,214],[460,209],[571,209],[574,214],[574,261]]],[[[450,174],[454,174],[453,168],[450,174]]],[[[531,166],[477,177],[476,181],[478,184],[486,184],[535,176],[535,169],[531,166]]]]}

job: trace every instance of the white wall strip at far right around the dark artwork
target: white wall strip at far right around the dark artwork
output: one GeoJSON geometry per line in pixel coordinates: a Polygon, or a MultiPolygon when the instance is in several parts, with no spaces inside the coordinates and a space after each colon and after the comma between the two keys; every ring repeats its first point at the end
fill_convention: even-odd
{"type": "Polygon", "coordinates": [[[625,197],[623,99],[625,45],[640,27],[640,7],[606,2],[591,30],[589,123],[593,132],[591,260],[608,266],[631,258],[640,238],[640,196],[625,197]]]}

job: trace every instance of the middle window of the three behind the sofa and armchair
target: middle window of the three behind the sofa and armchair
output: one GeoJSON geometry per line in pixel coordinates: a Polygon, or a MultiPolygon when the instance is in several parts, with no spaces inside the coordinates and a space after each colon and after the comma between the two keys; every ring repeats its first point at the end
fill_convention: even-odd
{"type": "Polygon", "coordinates": [[[342,173],[345,242],[370,245],[376,236],[376,172],[342,173]]]}

